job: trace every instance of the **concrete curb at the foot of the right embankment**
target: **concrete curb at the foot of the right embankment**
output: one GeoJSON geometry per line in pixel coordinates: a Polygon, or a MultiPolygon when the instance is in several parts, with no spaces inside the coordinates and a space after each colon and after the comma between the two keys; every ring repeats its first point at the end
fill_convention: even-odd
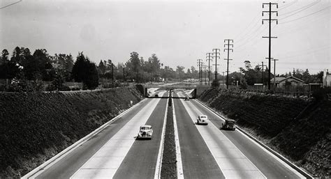
{"type": "MultiPolygon", "coordinates": [[[[196,102],[198,102],[199,104],[203,105],[203,107],[209,109],[209,111],[212,111],[214,114],[216,114],[217,116],[221,117],[222,119],[225,118],[224,116],[221,116],[221,114],[216,113],[212,108],[208,107],[206,104],[203,104],[203,102],[200,102],[199,100],[196,100],[196,102]]],[[[242,130],[240,127],[237,126],[237,130],[240,130],[240,132],[242,132],[247,137],[249,137],[249,139],[252,139],[256,143],[258,143],[260,146],[262,146],[263,148],[265,148],[266,150],[268,150],[270,153],[272,153],[273,155],[275,155],[276,157],[278,157],[279,159],[281,159],[283,162],[285,162],[290,167],[292,167],[293,169],[295,169],[295,171],[297,171],[300,174],[302,174],[302,176],[304,176],[306,178],[314,178],[314,177],[310,176],[309,173],[307,173],[306,171],[303,171],[302,169],[300,169],[299,166],[296,166],[295,164],[293,164],[292,162],[290,162],[288,159],[286,159],[286,157],[283,157],[281,154],[279,154],[276,151],[272,150],[270,147],[266,146],[261,141],[258,141],[258,139],[256,139],[255,137],[253,137],[251,134],[247,133],[246,131],[242,130]]]]}

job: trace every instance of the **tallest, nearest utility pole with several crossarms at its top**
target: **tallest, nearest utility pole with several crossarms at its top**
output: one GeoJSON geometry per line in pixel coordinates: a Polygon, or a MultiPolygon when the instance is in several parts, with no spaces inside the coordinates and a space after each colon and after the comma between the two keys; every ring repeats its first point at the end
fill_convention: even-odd
{"type": "MultiPolygon", "coordinates": [[[[276,15],[278,16],[278,11],[271,10],[271,7],[272,7],[272,5],[276,5],[276,7],[278,8],[278,3],[262,3],[262,8],[265,8],[264,7],[265,5],[269,5],[269,10],[267,10],[267,11],[263,10],[262,11],[262,16],[264,15],[264,13],[269,13],[269,19],[263,19],[262,24],[265,20],[267,20],[269,22],[269,36],[262,37],[262,38],[269,38],[269,57],[268,57],[268,59],[269,59],[269,69],[270,69],[270,66],[271,66],[271,39],[272,38],[277,38],[277,37],[272,37],[271,36],[271,22],[275,20],[276,23],[278,24],[278,20],[271,18],[272,13],[276,13],[276,15]]],[[[267,85],[267,88],[269,90],[270,90],[270,80],[271,80],[270,77],[271,77],[271,72],[269,70],[269,75],[268,75],[269,83],[267,85]]]]}

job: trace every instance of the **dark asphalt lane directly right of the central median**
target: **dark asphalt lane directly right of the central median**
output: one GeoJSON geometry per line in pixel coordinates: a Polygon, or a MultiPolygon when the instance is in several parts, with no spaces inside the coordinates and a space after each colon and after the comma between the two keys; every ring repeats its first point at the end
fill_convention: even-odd
{"type": "Polygon", "coordinates": [[[173,101],[184,178],[224,178],[184,105],[179,99],[173,99],[173,101]]]}

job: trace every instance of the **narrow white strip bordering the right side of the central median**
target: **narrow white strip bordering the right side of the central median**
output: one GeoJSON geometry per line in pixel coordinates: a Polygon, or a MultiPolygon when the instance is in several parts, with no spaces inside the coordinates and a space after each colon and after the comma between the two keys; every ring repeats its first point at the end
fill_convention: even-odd
{"type": "MultiPolygon", "coordinates": [[[[172,100],[172,99],[171,99],[172,100]]],[[[175,104],[172,100],[172,115],[173,115],[173,123],[174,123],[174,130],[175,130],[175,146],[176,146],[176,160],[177,160],[177,178],[184,179],[184,171],[183,171],[183,164],[182,164],[182,154],[180,153],[180,145],[179,145],[179,135],[178,135],[178,128],[177,128],[177,120],[175,115],[175,104]]]]}

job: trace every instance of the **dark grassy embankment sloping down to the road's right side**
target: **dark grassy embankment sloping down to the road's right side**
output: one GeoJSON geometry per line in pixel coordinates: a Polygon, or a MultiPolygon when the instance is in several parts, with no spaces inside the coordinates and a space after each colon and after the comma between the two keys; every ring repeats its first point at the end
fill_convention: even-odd
{"type": "Polygon", "coordinates": [[[331,101],[210,88],[199,98],[313,176],[331,176],[331,101]]]}

